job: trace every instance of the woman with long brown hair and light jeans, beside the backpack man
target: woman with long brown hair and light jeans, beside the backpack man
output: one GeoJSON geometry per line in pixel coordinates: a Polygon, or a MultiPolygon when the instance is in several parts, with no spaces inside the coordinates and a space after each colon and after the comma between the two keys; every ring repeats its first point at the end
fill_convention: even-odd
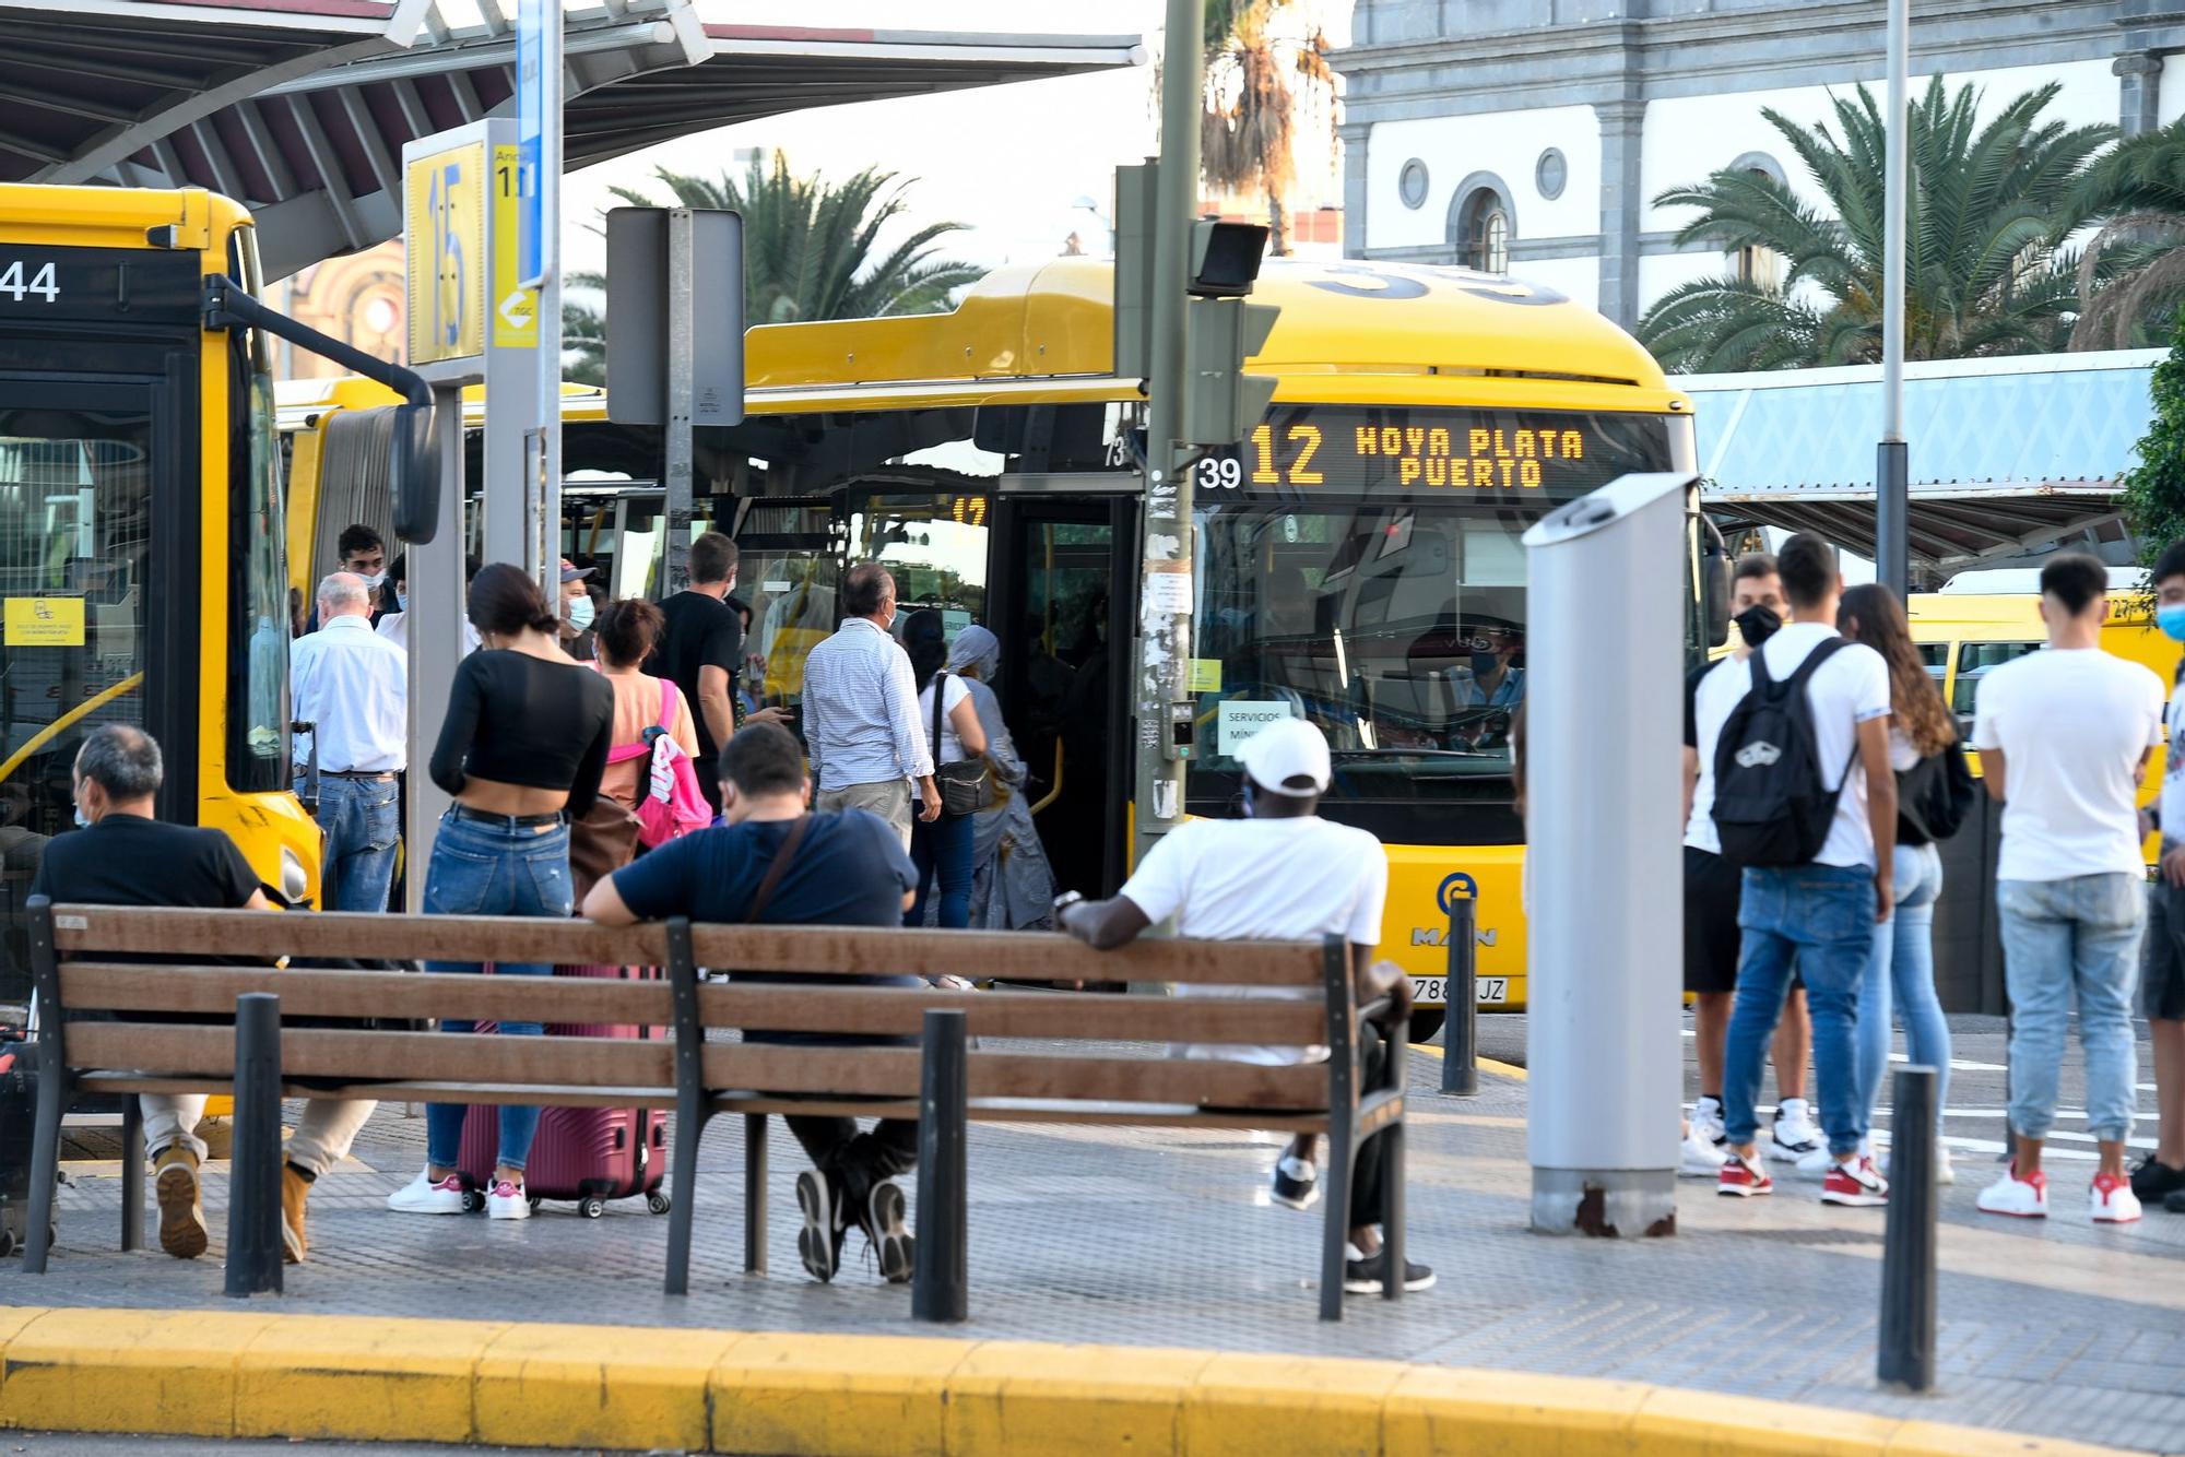
{"type": "MultiPolygon", "coordinates": [[[[1927,760],[1962,754],[1958,723],[1912,644],[1912,627],[1897,594],[1877,583],[1851,588],[1835,609],[1835,625],[1853,642],[1881,653],[1890,666],[1890,767],[1897,771],[1897,782],[1903,784],[1927,760]]],[[[1912,808],[1905,795],[1899,795],[1899,802],[1912,808]]],[[[1934,994],[1934,902],[1942,896],[1942,852],[1916,813],[1897,815],[1894,867],[1890,883],[1894,911],[1875,926],[1875,955],[1859,987],[1857,1094],[1870,1112],[1890,1062],[1894,1000],[1912,1062],[1936,1070],[1934,1101],[1940,1125],[1940,1110],[1949,1105],[1949,1022],[1942,1020],[1942,1003],[1934,994]]],[[[1934,1166],[1942,1184],[1956,1182],[1949,1149],[1940,1142],[1934,1166]]]]}

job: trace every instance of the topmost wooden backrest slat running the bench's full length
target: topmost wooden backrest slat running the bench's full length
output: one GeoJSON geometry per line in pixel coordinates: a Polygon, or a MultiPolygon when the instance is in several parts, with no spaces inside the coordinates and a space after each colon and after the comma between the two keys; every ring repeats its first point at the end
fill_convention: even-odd
{"type": "MultiPolygon", "coordinates": [[[[361,957],[439,961],[564,961],[660,966],[662,926],[496,915],[361,915],[323,911],[177,911],[55,907],[63,952],[181,957],[361,957]]],[[[1064,935],[900,931],[854,926],[693,926],[699,966],[745,972],[1009,976],[1025,981],[1200,981],[1318,987],[1322,950],[1309,941],[1134,941],[1097,952],[1064,935]]]]}

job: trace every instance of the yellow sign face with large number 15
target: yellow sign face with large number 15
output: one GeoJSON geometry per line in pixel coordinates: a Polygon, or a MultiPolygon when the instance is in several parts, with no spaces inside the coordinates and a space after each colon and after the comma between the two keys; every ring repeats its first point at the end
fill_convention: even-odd
{"type": "Polygon", "coordinates": [[[485,142],[406,164],[409,363],[485,354],[485,142]]]}

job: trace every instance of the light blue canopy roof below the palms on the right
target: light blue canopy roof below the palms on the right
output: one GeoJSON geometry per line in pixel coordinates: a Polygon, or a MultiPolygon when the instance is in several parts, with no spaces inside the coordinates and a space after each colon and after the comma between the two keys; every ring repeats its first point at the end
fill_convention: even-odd
{"type": "MultiPolygon", "coordinates": [[[[2122,542],[2117,476],[2139,461],[2161,350],[1905,365],[1910,544],[1942,577],[2056,542],[2122,542]]],[[[1818,531],[1875,555],[1881,369],[1680,376],[1706,513],[1818,531]]]]}

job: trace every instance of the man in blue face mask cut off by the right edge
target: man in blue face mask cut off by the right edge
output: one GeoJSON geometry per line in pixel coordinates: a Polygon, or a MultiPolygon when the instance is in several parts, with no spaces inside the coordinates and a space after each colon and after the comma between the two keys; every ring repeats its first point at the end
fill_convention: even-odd
{"type": "MultiPolygon", "coordinates": [[[[2185,642],[2185,542],[2154,561],[2154,627],[2185,642]]],[[[2148,832],[2163,832],[2161,874],[2148,887],[2139,952],[2139,1011],[2154,1044],[2154,1151],[2133,1169],[2133,1193],[2185,1215],[2185,675],[2163,714],[2163,797],[2148,832]]]]}

